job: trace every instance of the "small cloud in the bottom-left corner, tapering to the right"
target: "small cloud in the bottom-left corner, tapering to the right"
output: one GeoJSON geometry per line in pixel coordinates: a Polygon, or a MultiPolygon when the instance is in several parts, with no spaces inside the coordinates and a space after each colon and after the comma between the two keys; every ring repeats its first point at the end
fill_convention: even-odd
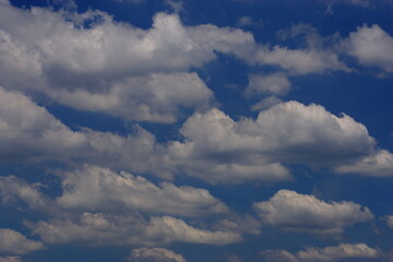
{"type": "Polygon", "coordinates": [[[29,240],[12,229],[0,229],[0,253],[25,254],[41,249],[45,249],[45,246],[40,241],[29,240]]]}

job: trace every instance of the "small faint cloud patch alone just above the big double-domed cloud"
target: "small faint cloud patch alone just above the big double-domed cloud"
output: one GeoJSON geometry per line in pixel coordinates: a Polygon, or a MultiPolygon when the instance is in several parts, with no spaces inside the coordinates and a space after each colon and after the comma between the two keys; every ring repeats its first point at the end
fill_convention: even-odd
{"type": "Polygon", "coordinates": [[[258,94],[285,95],[290,88],[290,82],[283,73],[273,73],[269,75],[251,74],[246,88],[247,96],[258,94]]]}

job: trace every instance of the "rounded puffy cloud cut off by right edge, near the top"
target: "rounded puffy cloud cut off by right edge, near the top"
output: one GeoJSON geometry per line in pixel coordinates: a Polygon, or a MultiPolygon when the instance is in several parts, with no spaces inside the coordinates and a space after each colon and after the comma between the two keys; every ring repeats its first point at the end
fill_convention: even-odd
{"type": "Polygon", "coordinates": [[[360,64],[393,73],[393,37],[379,25],[362,25],[343,41],[346,52],[360,64]]]}

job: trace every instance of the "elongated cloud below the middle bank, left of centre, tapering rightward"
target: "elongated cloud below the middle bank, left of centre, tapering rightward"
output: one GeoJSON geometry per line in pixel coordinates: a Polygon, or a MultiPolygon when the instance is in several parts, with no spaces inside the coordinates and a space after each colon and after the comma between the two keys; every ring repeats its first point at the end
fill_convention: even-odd
{"type": "Polygon", "coordinates": [[[84,166],[62,174],[62,194],[57,202],[67,209],[116,213],[121,210],[150,214],[205,216],[228,212],[207,190],[156,186],[143,177],[110,169],[84,166]]]}

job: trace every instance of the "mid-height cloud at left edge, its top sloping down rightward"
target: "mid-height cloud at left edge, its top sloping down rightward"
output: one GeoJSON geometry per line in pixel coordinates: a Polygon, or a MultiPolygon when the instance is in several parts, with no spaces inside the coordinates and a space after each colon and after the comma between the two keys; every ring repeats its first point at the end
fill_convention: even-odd
{"type": "Polygon", "coordinates": [[[0,87],[0,158],[61,158],[76,153],[86,138],[70,130],[28,97],[0,87]]]}

